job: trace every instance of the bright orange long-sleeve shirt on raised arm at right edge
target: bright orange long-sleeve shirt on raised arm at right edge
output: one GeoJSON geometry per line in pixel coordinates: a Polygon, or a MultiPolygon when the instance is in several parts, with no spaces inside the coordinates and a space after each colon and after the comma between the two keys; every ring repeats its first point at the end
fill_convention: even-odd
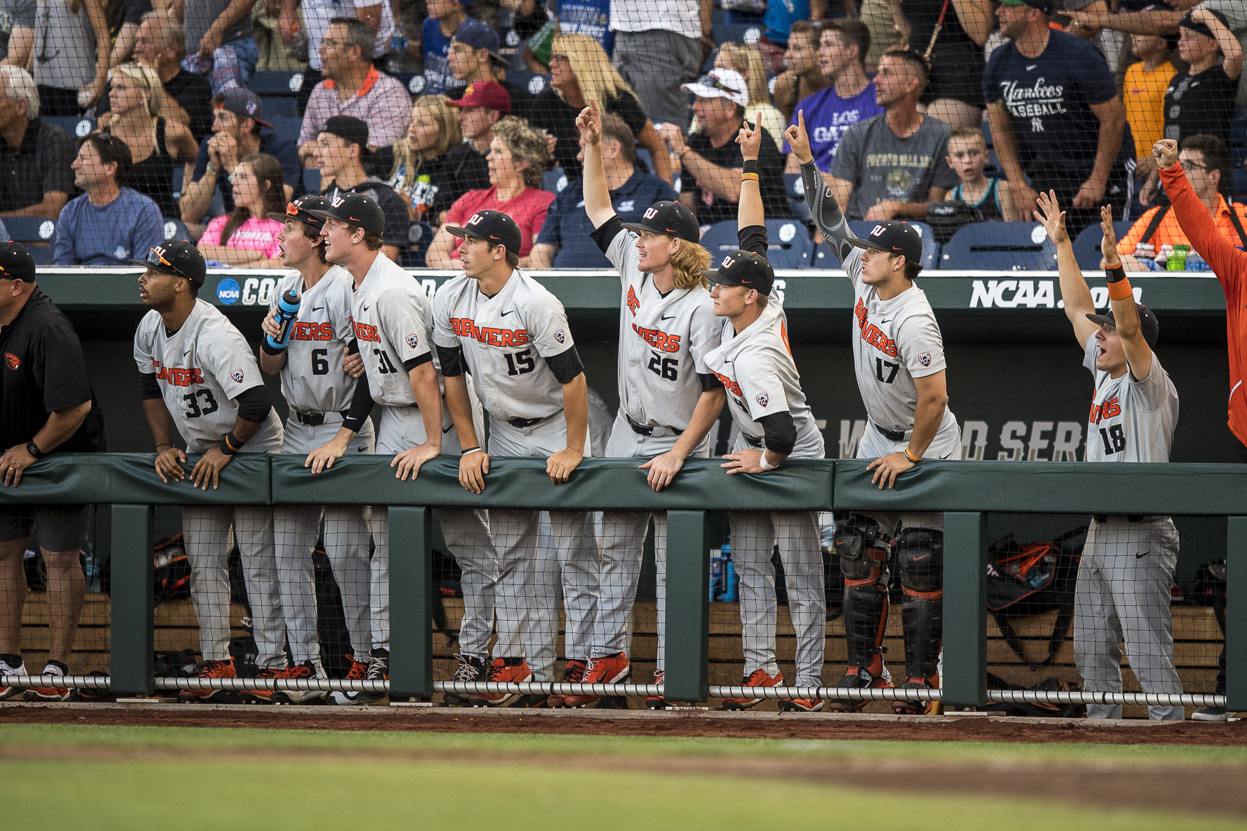
{"type": "Polygon", "coordinates": [[[1247,252],[1238,250],[1212,222],[1208,209],[1195,194],[1195,188],[1181,164],[1161,169],[1161,182],[1173,203],[1173,212],[1195,250],[1212,268],[1226,293],[1226,339],[1230,346],[1230,432],[1247,445],[1247,389],[1243,387],[1243,366],[1247,365],[1247,316],[1243,289],[1247,284],[1247,252]]]}

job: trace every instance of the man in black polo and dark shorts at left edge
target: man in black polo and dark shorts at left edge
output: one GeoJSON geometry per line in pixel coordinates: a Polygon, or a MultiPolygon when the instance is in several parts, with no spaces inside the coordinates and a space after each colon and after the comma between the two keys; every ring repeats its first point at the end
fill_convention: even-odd
{"type": "MultiPolygon", "coordinates": [[[[82,345],[60,309],[35,285],[35,260],[17,243],[0,243],[0,482],[17,487],[22,472],[50,452],[104,450],[104,416],[86,376],[82,345]]],[[[0,512],[0,700],[21,694],[5,675],[34,675],[21,660],[21,558],[31,527],[47,566],[52,643],[44,675],[67,675],[82,609],[79,551],[86,542],[85,505],[10,505],[0,512]]],[[[31,667],[30,669],[35,669],[31,667]]],[[[67,689],[36,688],[36,700],[59,701],[67,689]]]]}

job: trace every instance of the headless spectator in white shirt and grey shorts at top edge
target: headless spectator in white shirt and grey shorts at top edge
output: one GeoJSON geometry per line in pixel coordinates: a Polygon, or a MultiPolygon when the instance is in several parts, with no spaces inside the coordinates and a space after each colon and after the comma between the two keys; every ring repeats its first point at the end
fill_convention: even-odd
{"type": "Polygon", "coordinates": [[[697,77],[715,47],[711,0],[614,0],[615,69],[636,91],[641,107],[657,125],[683,130],[688,96],[681,85],[697,77]]]}

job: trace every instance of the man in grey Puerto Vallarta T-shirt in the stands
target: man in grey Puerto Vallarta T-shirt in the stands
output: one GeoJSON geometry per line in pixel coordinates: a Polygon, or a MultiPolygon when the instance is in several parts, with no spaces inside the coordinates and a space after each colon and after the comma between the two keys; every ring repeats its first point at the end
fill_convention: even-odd
{"type": "Polygon", "coordinates": [[[948,122],[918,112],[927,87],[922,55],[892,49],[879,59],[875,96],[884,115],[840,137],[827,182],[849,219],[925,219],[958,182],[948,166],[948,122]]]}

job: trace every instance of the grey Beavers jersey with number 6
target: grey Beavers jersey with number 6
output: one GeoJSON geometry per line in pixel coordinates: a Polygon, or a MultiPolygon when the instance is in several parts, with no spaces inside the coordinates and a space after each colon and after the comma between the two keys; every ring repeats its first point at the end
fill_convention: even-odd
{"type": "Polygon", "coordinates": [[[350,328],[352,285],[347,269],[334,265],[304,292],[303,275],[294,272],[278,280],[268,302],[272,311],[288,290],[302,295],[298,314],[291,323],[282,366],[282,392],[299,412],[350,409],[355,379],[342,369],[342,358],[347,354],[347,344],[355,339],[350,328]]]}

